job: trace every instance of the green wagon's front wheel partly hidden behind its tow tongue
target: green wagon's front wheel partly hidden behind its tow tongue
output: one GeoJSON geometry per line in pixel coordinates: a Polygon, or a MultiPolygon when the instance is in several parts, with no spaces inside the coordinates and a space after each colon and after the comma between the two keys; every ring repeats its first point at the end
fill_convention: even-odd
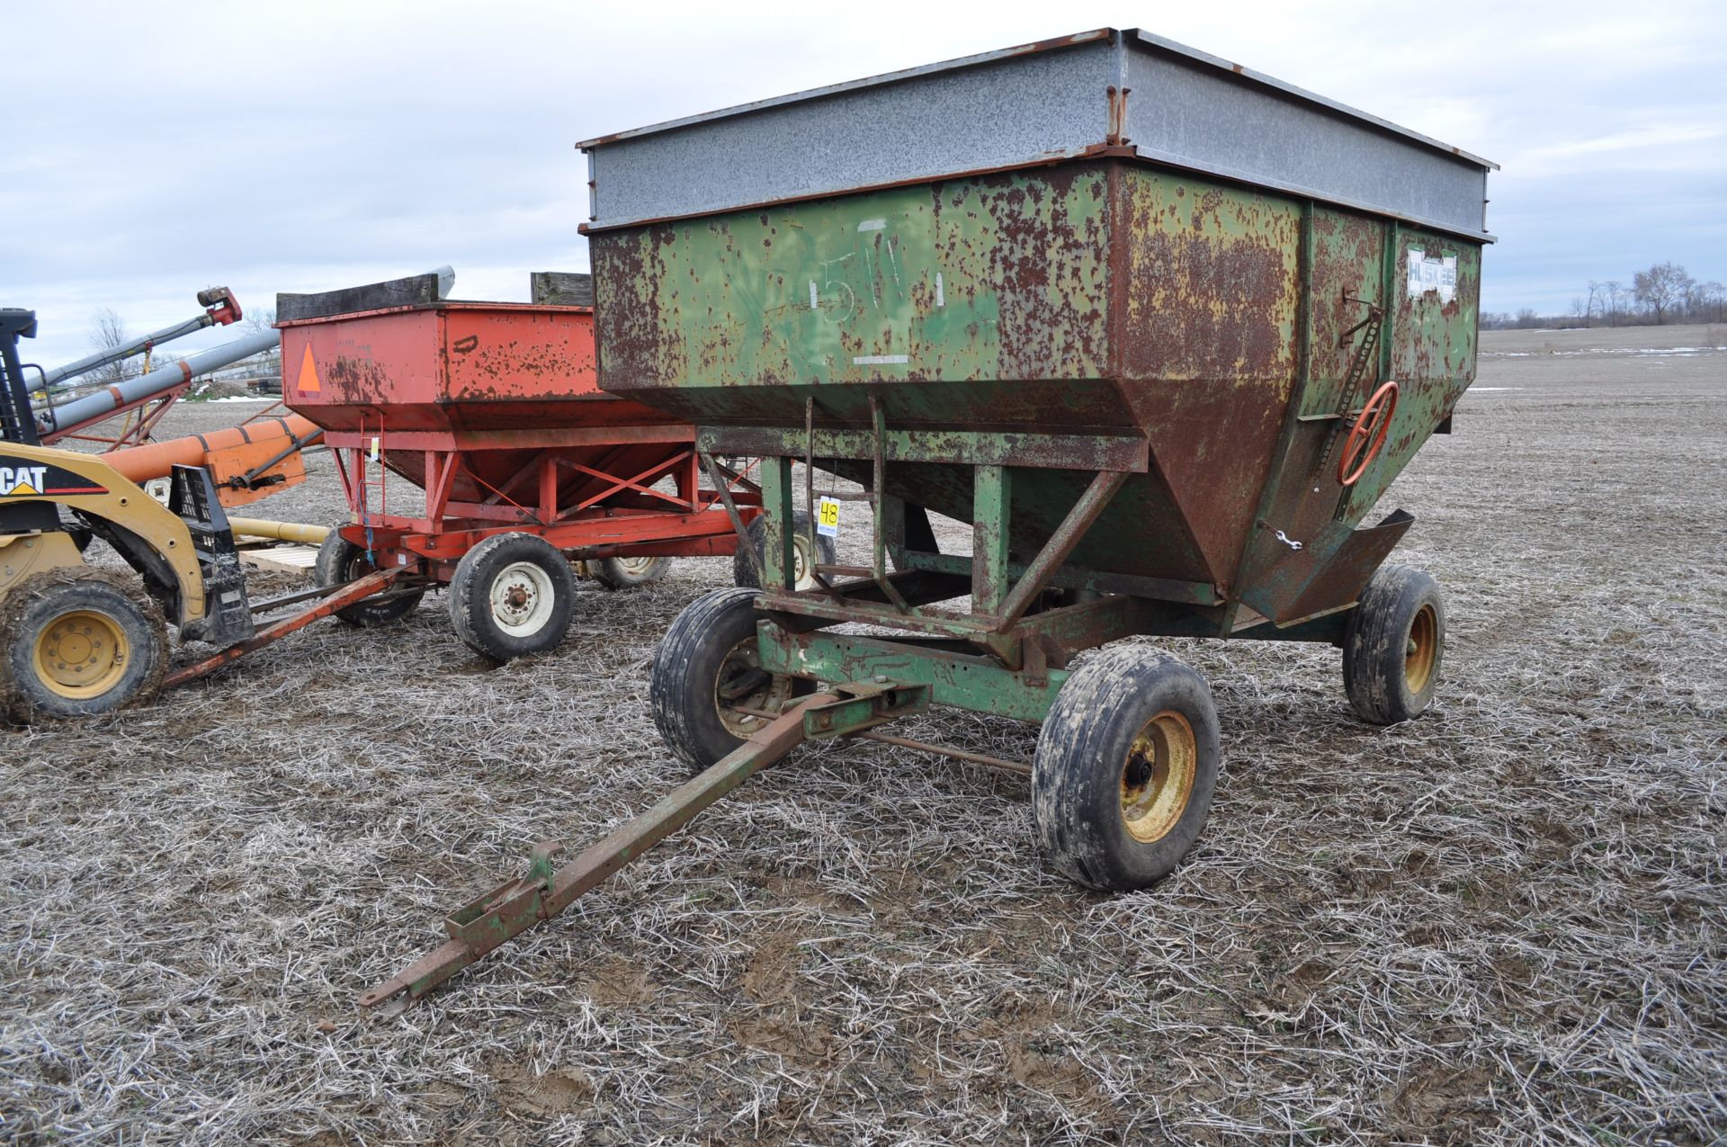
{"type": "Polygon", "coordinates": [[[701,772],[725,757],[793,698],[815,689],[813,681],[762,669],[756,650],[753,589],[715,589],[696,598],[653,658],[648,696],[653,722],[679,760],[701,772]]]}

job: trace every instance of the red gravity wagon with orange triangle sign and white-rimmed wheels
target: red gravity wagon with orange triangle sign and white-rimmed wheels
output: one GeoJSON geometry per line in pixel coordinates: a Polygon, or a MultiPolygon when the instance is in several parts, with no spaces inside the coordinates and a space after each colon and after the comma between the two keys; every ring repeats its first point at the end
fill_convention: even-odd
{"type": "Polygon", "coordinates": [[[760,546],[760,491],[701,470],[689,423],[599,390],[585,280],[535,275],[532,304],[447,301],[439,273],[278,295],[283,397],[323,427],[351,511],[318,580],[397,572],[344,620],[442,586],[463,641],[509,660],[563,641],[579,575],[620,589],[734,554],[755,584],[734,522],[760,546]]]}

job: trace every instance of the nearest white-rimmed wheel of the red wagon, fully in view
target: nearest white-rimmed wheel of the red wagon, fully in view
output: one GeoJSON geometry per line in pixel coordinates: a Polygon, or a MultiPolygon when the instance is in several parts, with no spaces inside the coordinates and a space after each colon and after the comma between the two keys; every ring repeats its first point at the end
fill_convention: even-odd
{"type": "Polygon", "coordinates": [[[492,534],[463,554],[449,582],[456,636],[494,662],[558,648],[573,605],[570,561],[534,534],[492,534]]]}

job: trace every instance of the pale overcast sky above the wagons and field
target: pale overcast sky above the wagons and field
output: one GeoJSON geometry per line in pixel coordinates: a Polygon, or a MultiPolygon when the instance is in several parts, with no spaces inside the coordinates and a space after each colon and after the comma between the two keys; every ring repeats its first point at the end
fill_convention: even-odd
{"type": "Polygon", "coordinates": [[[97,307],[143,333],[212,283],[268,307],[449,263],[458,297],[527,299],[528,271],[587,269],[575,140],[1109,24],[1502,164],[1483,309],[1665,259],[1727,282],[1720,0],[0,10],[0,306],[38,311],[45,364],[97,307]]]}

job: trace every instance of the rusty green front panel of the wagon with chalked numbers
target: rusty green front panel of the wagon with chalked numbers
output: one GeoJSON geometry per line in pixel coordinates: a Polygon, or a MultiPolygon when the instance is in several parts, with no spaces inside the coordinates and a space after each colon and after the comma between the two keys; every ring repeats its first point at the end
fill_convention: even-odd
{"type": "MultiPolygon", "coordinates": [[[[1104,183],[995,176],[596,235],[611,385],[1102,377],[1104,183]]],[[[900,396],[900,421],[952,423],[955,401],[900,396]]]]}

